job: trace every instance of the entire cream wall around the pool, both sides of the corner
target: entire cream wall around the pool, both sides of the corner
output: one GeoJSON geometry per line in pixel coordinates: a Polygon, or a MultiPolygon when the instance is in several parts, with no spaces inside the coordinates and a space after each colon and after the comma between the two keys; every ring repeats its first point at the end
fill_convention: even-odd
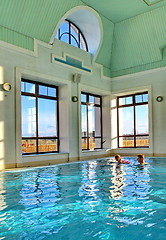
{"type": "Polygon", "coordinates": [[[0,55],[0,169],[85,160],[115,153],[135,155],[141,152],[146,156],[166,156],[166,68],[106,78],[102,74],[102,66],[92,63],[89,53],[58,40],[54,46],[35,41],[34,52],[0,42],[0,55]],[[53,56],[59,59],[65,59],[66,56],[79,59],[84,67],[91,69],[91,73],[53,61],[53,56]],[[73,82],[75,73],[81,74],[80,82],[73,82]],[[58,154],[22,156],[22,77],[59,86],[61,147],[58,154]],[[2,89],[4,82],[12,85],[11,91],[2,89]],[[117,149],[116,141],[113,141],[116,135],[116,114],[111,110],[110,99],[144,90],[149,91],[150,148],[117,149]],[[81,150],[81,91],[103,96],[103,140],[106,142],[102,150],[81,150]],[[159,95],[164,98],[160,103],[156,101],[159,95]],[[78,96],[77,103],[71,101],[72,96],[78,96]]]}

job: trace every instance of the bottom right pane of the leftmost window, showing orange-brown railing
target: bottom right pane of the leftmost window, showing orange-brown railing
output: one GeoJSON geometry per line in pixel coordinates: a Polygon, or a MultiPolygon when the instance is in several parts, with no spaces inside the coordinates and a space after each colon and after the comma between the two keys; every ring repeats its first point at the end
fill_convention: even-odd
{"type": "Polygon", "coordinates": [[[38,152],[55,152],[58,151],[58,141],[55,139],[39,139],[38,152]]]}

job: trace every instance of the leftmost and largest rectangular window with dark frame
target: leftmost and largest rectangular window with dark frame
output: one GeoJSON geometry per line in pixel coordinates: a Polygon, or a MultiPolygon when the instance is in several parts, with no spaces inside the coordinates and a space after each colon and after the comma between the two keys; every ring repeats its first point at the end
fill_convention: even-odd
{"type": "Polygon", "coordinates": [[[58,152],[58,89],[22,79],[22,153],[58,152]]]}

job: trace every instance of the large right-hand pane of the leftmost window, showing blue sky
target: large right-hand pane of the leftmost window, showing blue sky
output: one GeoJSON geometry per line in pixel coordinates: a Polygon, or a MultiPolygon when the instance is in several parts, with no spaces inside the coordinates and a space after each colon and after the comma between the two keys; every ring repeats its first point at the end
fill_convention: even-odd
{"type": "Polygon", "coordinates": [[[39,137],[57,136],[57,102],[50,99],[38,99],[39,137]]]}

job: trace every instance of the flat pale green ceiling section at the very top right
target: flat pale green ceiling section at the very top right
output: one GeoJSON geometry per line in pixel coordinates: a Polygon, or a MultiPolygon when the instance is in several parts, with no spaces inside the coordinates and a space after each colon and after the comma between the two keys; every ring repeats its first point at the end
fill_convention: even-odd
{"type": "Polygon", "coordinates": [[[113,23],[166,5],[166,0],[82,0],[113,23]],[[147,3],[152,4],[148,5],[147,3]]]}

